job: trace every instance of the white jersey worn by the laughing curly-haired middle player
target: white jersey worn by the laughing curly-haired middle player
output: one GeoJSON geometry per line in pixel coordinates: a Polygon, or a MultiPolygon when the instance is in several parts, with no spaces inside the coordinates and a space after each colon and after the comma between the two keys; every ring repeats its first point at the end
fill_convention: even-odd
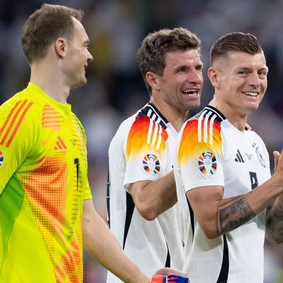
{"type": "MultiPolygon", "coordinates": [[[[177,132],[148,103],[122,122],[109,148],[108,220],[125,254],[151,277],[161,267],[183,269],[183,242],[175,204],[154,221],[144,219],[127,192],[131,183],[157,180],[172,170],[177,132]]],[[[120,282],[108,272],[109,282],[120,282]]]]}

